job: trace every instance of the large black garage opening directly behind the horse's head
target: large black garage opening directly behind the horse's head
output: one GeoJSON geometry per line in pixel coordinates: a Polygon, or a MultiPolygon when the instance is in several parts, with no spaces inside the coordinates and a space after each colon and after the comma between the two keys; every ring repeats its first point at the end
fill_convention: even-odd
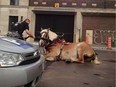
{"type": "Polygon", "coordinates": [[[73,42],[74,14],[36,14],[36,37],[41,28],[50,28],[56,33],[64,33],[64,39],[73,42]]]}

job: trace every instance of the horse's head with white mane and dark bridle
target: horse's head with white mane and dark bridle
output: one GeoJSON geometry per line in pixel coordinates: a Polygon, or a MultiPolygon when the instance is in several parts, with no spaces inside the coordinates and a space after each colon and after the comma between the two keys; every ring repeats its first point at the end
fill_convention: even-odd
{"type": "Polygon", "coordinates": [[[58,35],[55,32],[51,31],[50,28],[41,28],[39,46],[47,46],[56,38],[58,38],[58,35]]]}

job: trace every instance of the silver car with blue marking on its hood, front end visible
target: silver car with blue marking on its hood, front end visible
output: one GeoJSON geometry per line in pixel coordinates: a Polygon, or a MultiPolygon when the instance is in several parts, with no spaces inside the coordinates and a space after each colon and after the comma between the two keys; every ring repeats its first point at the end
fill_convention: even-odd
{"type": "Polygon", "coordinates": [[[43,70],[38,46],[0,36],[0,87],[36,87],[43,70]]]}

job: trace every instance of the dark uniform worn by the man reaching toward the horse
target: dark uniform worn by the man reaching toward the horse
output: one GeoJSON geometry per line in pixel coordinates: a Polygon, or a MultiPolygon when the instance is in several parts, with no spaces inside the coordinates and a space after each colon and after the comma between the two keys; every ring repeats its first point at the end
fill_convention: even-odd
{"type": "Polygon", "coordinates": [[[18,38],[24,40],[22,34],[23,34],[23,32],[24,32],[26,29],[29,30],[29,25],[28,25],[28,23],[26,23],[25,21],[23,21],[23,22],[20,22],[20,23],[16,23],[16,24],[14,25],[14,27],[11,29],[11,31],[12,31],[12,32],[17,32],[17,33],[19,34],[19,37],[18,37],[18,38]]]}

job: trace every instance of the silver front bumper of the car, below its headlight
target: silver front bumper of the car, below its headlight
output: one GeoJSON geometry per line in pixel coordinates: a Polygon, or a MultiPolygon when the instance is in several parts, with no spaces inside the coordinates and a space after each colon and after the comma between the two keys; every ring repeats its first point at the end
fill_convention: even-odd
{"type": "Polygon", "coordinates": [[[34,81],[44,70],[44,57],[32,64],[0,68],[0,87],[23,86],[34,81]]]}

